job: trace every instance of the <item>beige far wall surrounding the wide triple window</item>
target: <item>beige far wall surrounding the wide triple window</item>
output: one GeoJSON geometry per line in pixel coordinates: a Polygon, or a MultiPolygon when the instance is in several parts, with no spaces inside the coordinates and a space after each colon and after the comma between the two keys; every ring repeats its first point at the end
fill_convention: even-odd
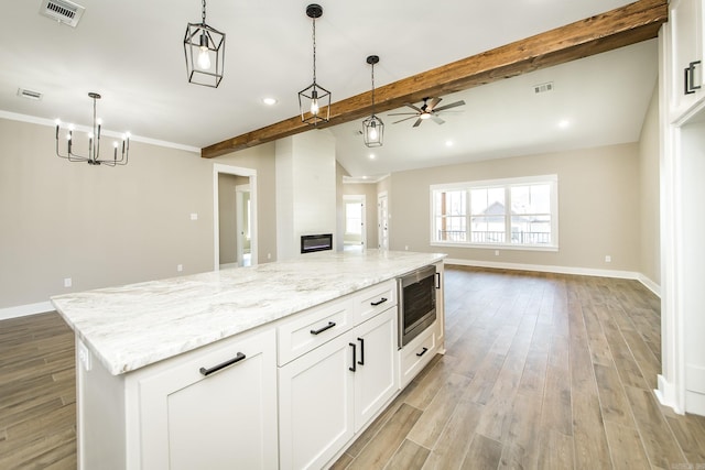
{"type": "Polygon", "coordinates": [[[392,250],[408,247],[451,259],[578,269],[639,272],[642,265],[636,143],[394,173],[387,185],[392,250]],[[495,255],[495,250],[431,247],[430,185],[546,174],[558,175],[557,252],[500,249],[495,255]]]}

